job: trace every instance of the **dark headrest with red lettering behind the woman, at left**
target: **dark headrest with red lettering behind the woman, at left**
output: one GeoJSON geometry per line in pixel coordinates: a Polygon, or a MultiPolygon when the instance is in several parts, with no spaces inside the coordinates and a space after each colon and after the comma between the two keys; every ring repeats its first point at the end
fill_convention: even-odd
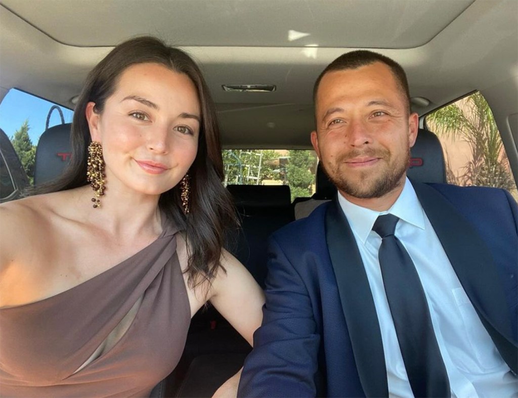
{"type": "Polygon", "coordinates": [[[70,161],[70,123],[47,129],[39,138],[34,161],[34,185],[59,177],[70,161]]]}

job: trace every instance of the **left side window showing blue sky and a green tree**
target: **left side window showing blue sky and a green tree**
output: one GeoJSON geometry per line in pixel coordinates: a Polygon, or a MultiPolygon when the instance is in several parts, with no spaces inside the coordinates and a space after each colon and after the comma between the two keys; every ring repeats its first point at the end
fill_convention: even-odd
{"type": "Polygon", "coordinates": [[[31,184],[34,178],[36,145],[45,131],[47,121],[49,127],[62,122],[70,123],[73,114],[70,109],[16,89],[9,90],[2,100],[0,128],[5,131],[15,148],[31,184]],[[54,111],[49,113],[51,109],[54,111]]]}

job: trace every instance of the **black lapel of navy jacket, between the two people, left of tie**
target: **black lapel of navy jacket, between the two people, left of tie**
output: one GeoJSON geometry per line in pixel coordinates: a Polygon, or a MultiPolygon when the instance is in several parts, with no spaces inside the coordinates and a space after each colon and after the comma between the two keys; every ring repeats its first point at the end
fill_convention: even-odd
{"type": "Polygon", "coordinates": [[[362,387],[366,396],[389,396],[376,307],[356,240],[336,199],[327,208],[325,229],[362,387]]]}

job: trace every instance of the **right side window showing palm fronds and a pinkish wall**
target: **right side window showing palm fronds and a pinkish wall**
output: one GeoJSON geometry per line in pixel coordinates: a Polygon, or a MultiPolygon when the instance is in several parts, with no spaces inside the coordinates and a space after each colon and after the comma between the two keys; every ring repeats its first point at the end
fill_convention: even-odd
{"type": "Polygon", "coordinates": [[[481,93],[428,114],[425,124],[441,141],[449,183],[504,188],[518,199],[500,132],[481,93]]]}

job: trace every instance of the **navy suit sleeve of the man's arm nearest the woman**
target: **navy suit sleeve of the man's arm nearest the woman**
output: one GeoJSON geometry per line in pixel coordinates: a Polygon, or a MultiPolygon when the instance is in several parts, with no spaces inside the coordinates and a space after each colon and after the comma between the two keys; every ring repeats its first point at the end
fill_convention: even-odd
{"type": "Polygon", "coordinates": [[[320,336],[308,290],[274,239],[269,241],[263,324],[254,333],[238,396],[316,396],[320,336]]]}

